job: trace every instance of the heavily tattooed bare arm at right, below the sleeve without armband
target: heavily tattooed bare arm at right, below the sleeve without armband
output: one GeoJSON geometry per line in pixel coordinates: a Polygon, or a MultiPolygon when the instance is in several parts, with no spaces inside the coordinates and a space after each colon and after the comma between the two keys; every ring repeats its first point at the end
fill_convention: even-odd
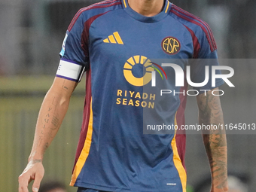
{"type": "MultiPolygon", "coordinates": [[[[218,88],[215,88],[218,90],[218,88]]],[[[216,94],[215,94],[216,95],[216,94]]],[[[224,125],[221,101],[212,91],[197,96],[199,123],[204,125],[224,125]]],[[[221,126],[219,126],[221,127],[221,126]]],[[[222,126],[223,127],[223,126],[222,126]]],[[[224,130],[203,132],[203,142],[209,158],[212,173],[211,192],[228,191],[227,186],[227,139],[224,130]]]]}

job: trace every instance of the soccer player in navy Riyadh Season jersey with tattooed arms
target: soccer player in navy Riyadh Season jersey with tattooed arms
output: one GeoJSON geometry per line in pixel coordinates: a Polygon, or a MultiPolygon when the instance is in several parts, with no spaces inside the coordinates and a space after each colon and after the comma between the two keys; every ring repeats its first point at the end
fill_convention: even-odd
{"type": "MultiPolygon", "coordinates": [[[[19,177],[19,191],[27,192],[31,180],[35,180],[32,190],[38,191],[44,151],[84,71],[84,120],[71,185],[80,192],[186,191],[185,135],[143,134],[143,128],[184,124],[182,93],[187,87],[175,86],[172,68],[150,59],[177,59],[181,69],[188,65],[187,59],[216,60],[209,26],[168,0],[108,0],[78,11],[60,55],[56,78],[38,115],[29,163],[19,177]],[[164,72],[166,79],[161,80],[156,71],[164,72]],[[160,96],[162,87],[179,94],[160,96]]],[[[202,66],[191,66],[191,73],[193,82],[204,81],[202,66]]],[[[211,91],[223,81],[215,83],[200,87],[206,93],[198,90],[201,124],[223,123],[219,97],[211,91]]],[[[227,191],[225,135],[212,130],[203,133],[203,142],[212,172],[211,191],[227,191]]]]}

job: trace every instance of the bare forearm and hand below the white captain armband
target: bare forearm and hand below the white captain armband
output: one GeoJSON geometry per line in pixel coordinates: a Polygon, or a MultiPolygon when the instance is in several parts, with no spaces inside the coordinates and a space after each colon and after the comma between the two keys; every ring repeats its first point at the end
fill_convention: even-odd
{"type": "Polygon", "coordinates": [[[19,192],[29,192],[28,184],[32,180],[35,180],[32,191],[38,191],[41,179],[44,176],[44,166],[42,164],[44,151],[59,130],[69,107],[70,97],[77,84],[77,82],[65,78],[55,78],[50,90],[44,97],[38,114],[29,163],[19,177],[19,192]]]}

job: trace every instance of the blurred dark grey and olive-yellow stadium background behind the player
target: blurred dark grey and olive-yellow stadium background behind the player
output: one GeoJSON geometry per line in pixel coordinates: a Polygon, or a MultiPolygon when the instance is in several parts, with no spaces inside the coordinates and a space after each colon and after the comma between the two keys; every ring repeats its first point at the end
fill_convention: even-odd
{"type": "MultiPolygon", "coordinates": [[[[17,191],[26,166],[35,122],[59,63],[66,29],[79,8],[96,0],[0,0],[0,191],[17,191]]],[[[212,27],[220,58],[229,58],[236,88],[221,87],[225,123],[256,123],[256,1],[173,0],[212,27]],[[236,59],[236,61],[232,60],[236,59]],[[237,62],[239,59],[239,62],[237,62]]],[[[43,181],[71,178],[84,105],[84,81],[72,96],[69,112],[44,157],[43,181]]],[[[187,124],[197,123],[194,97],[187,100],[187,124]]],[[[256,136],[228,135],[229,171],[256,188],[256,136]]],[[[209,165],[200,135],[187,136],[188,184],[206,183],[209,165]]],[[[239,182],[235,181],[236,184],[239,182]]],[[[241,185],[241,184],[240,184],[241,185]]],[[[75,191],[69,187],[69,191],[75,191]]],[[[191,190],[192,191],[192,190],[191,190]]],[[[242,190],[241,190],[242,191],[242,190]]]]}

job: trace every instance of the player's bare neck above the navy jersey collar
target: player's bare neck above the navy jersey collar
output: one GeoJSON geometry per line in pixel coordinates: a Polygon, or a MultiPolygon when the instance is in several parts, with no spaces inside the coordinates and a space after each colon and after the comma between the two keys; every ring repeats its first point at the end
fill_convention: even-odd
{"type": "Polygon", "coordinates": [[[127,0],[130,8],[146,17],[153,17],[163,10],[164,0],[127,0]]]}

